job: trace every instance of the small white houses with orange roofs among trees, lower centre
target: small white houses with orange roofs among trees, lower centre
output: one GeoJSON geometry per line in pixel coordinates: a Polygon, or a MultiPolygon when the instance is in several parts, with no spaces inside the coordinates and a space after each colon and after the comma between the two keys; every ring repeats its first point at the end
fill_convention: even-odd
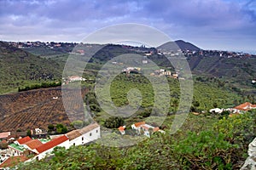
{"type": "MultiPolygon", "coordinates": [[[[143,134],[148,138],[152,133],[155,133],[155,132],[165,133],[165,131],[160,130],[159,127],[153,127],[151,125],[148,125],[146,122],[134,123],[131,125],[131,128],[134,129],[138,135],[143,134]]],[[[121,126],[118,129],[122,135],[125,134],[125,126],[121,126]]]]}

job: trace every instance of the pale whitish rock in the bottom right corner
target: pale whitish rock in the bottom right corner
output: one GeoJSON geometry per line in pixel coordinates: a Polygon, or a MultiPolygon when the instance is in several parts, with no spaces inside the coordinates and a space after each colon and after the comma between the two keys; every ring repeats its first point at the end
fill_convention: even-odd
{"type": "Polygon", "coordinates": [[[241,170],[256,170],[256,138],[249,144],[248,155],[241,170]]]}

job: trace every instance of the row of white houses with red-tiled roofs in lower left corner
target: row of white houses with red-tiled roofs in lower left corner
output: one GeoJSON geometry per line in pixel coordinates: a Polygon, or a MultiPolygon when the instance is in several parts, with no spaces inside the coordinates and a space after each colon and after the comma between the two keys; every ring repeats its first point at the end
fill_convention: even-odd
{"type": "Polygon", "coordinates": [[[0,169],[14,166],[14,163],[17,164],[20,161],[41,160],[50,155],[56,146],[68,149],[73,145],[88,144],[99,138],[101,138],[101,132],[97,123],[55,136],[52,139],[32,139],[26,136],[8,145],[6,154],[1,155],[0,169]]]}

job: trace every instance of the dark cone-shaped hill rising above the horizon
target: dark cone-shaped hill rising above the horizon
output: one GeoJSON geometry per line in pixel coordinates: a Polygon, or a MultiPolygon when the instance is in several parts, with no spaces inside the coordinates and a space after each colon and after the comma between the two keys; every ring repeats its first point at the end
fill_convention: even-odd
{"type": "Polygon", "coordinates": [[[194,44],[190,42],[184,42],[183,40],[177,40],[175,42],[166,42],[160,45],[157,49],[168,50],[168,51],[176,51],[177,49],[181,49],[182,51],[199,51],[201,48],[196,47],[194,44]]]}

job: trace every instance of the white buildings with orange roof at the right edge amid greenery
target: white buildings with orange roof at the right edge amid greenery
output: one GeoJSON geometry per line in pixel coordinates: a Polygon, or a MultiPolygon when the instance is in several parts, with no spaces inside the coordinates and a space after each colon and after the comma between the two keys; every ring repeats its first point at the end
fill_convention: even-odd
{"type": "Polygon", "coordinates": [[[245,113],[246,111],[250,111],[256,109],[256,105],[253,105],[249,102],[245,102],[241,105],[237,105],[234,108],[228,108],[228,109],[219,109],[219,108],[214,108],[211,109],[210,112],[211,113],[222,113],[223,111],[230,111],[230,116],[232,116],[233,114],[242,114],[245,113]]]}

